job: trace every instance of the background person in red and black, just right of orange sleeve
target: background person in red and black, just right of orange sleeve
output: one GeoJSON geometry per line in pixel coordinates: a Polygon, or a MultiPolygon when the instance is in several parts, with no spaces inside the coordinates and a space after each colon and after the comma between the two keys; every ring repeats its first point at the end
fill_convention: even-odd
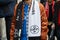
{"type": "Polygon", "coordinates": [[[53,15],[54,15],[54,4],[55,1],[54,0],[47,0],[46,5],[45,5],[45,11],[46,11],[46,15],[48,18],[48,36],[49,36],[49,40],[53,40],[54,39],[54,27],[53,27],[53,15]]]}

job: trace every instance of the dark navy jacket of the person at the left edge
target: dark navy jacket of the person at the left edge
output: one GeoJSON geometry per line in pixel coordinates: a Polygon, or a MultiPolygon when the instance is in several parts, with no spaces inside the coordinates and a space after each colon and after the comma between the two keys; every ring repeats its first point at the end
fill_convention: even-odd
{"type": "Polygon", "coordinates": [[[12,16],[14,13],[14,6],[16,5],[16,0],[12,0],[8,4],[0,5],[0,18],[6,16],[12,16]]]}

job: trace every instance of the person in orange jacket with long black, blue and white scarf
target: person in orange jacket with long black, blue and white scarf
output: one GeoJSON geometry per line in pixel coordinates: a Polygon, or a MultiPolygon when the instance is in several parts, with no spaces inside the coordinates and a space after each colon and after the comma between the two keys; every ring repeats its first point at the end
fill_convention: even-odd
{"type": "Polygon", "coordinates": [[[19,27],[21,27],[21,25],[23,25],[22,30],[21,30],[21,38],[20,38],[21,40],[27,40],[27,39],[29,39],[29,40],[47,40],[48,20],[46,17],[44,6],[41,3],[37,2],[36,0],[22,0],[22,2],[20,2],[19,4],[17,4],[15,6],[14,16],[13,16],[13,20],[11,23],[11,29],[10,29],[10,40],[14,40],[14,38],[15,38],[14,37],[15,28],[18,27],[18,24],[19,24],[19,23],[16,24],[17,20],[18,20],[18,22],[20,21],[19,27]],[[28,10],[28,8],[29,8],[29,10],[28,10]],[[34,8],[35,8],[35,10],[34,10],[34,8]],[[36,13],[35,13],[35,11],[36,11],[36,13]],[[19,15],[20,17],[19,16],[16,17],[17,14],[20,14],[19,15]],[[25,17],[26,15],[28,15],[27,18],[25,17]],[[20,20],[18,18],[20,18],[20,20]],[[27,21],[27,20],[29,20],[29,21],[27,21]],[[39,25],[39,27],[37,25],[39,25]],[[27,29],[28,35],[26,34],[26,27],[28,27],[28,29],[27,29]],[[31,32],[29,31],[29,29],[31,32]]]}

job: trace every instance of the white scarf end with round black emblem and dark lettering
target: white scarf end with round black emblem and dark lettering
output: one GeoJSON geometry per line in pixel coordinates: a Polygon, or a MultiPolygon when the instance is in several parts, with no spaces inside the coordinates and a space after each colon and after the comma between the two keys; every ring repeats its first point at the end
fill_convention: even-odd
{"type": "Polygon", "coordinates": [[[38,2],[32,0],[29,12],[28,37],[39,37],[41,35],[41,15],[38,2]]]}

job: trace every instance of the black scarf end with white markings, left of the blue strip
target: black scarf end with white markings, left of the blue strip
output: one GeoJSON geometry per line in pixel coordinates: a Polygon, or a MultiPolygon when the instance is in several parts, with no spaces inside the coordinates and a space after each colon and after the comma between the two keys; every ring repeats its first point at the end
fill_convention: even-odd
{"type": "Polygon", "coordinates": [[[20,8],[17,9],[16,14],[16,25],[15,25],[15,31],[14,31],[14,40],[20,39],[21,36],[21,29],[22,29],[22,17],[21,17],[21,11],[20,8]]]}

